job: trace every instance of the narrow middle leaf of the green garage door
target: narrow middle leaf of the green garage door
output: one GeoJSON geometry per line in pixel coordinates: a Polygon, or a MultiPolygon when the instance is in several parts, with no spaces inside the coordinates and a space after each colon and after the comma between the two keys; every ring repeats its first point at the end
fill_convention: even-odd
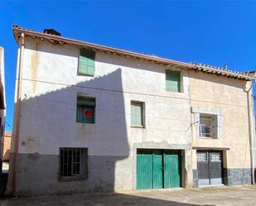
{"type": "Polygon", "coordinates": [[[162,188],[162,155],[152,155],[153,183],[152,188],[162,188]]]}

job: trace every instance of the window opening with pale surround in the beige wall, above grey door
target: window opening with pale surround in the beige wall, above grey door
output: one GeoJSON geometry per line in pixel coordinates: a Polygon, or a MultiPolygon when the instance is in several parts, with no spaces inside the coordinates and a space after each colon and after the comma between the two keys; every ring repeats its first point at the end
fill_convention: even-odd
{"type": "Polygon", "coordinates": [[[217,116],[200,114],[200,137],[217,138],[217,116]]]}

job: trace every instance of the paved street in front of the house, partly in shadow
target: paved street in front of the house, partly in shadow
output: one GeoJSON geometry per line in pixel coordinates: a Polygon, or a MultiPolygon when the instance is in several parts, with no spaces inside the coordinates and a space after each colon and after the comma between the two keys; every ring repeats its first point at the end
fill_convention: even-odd
{"type": "Polygon", "coordinates": [[[138,191],[128,194],[72,194],[2,199],[1,206],[196,206],[256,205],[256,186],[138,191]]]}

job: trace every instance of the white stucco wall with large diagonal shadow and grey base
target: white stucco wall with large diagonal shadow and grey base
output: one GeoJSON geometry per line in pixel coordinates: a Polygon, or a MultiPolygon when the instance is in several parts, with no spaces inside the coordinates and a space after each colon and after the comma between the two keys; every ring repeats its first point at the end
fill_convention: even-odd
{"type": "MultiPolygon", "coordinates": [[[[17,65],[22,77],[20,126],[16,134],[18,194],[134,190],[137,150],[143,148],[182,151],[181,186],[194,185],[196,157],[192,146],[197,145],[192,141],[192,128],[196,126],[191,107],[204,107],[191,104],[188,69],[175,68],[181,72],[181,93],[175,93],[166,90],[169,68],[147,60],[97,51],[94,76],[86,76],[78,74],[77,46],[27,37],[22,55],[22,65],[17,65]],[[76,122],[78,95],[95,98],[94,124],[76,122]],[[131,101],[145,104],[143,128],[131,127],[131,101]],[[88,149],[87,180],[58,179],[60,147],[88,149]]],[[[20,52],[18,62],[19,58],[20,52]]],[[[221,107],[218,109],[221,111],[221,107]]],[[[12,138],[9,193],[14,153],[12,138]]]]}

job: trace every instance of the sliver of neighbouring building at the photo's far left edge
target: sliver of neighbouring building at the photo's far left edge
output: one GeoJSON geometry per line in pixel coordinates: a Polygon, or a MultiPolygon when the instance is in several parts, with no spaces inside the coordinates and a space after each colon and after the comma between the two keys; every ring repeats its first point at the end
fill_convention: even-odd
{"type": "Polygon", "coordinates": [[[5,125],[5,83],[4,83],[4,50],[0,46],[0,173],[2,173],[2,148],[5,125]]]}

